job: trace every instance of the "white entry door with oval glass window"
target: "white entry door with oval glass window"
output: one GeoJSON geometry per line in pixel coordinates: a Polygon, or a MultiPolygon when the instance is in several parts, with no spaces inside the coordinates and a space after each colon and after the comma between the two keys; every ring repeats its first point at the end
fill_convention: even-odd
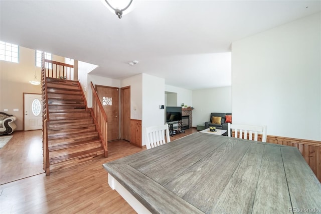
{"type": "Polygon", "coordinates": [[[41,94],[24,93],[25,131],[42,129],[41,94]]]}

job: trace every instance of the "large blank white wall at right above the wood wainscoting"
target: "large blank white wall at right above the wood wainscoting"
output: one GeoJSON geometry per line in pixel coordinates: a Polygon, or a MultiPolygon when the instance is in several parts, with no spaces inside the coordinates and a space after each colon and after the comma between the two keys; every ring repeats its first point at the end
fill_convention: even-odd
{"type": "Polygon", "coordinates": [[[232,43],[233,123],[321,140],[320,13],[232,43]]]}

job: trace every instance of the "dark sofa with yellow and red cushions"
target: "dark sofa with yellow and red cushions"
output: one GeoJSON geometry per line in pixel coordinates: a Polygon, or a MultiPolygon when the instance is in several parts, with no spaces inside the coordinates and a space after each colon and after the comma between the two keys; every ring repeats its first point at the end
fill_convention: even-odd
{"type": "Polygon", "coordinates": [[[224,133],[224,135],[227,136],[228,123],[232,123],[232,113],[211,113],[210,120],[205,122],[205,129],[208,129],[210,127],[223,129],[226,130],[226,133],[224,133]]]}

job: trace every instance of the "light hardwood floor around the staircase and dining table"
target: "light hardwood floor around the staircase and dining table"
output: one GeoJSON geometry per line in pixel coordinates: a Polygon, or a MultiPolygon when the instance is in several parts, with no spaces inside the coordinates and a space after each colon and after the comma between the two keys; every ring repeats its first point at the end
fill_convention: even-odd
{"type": "MultiPolygon", "coordinates": [[[[188,129],[186,133],[171,137],[171,141],[194,132],[197,132],[195,128],[188,129]]],[[[15,175],[19,174],[16,171],[22,171],[19,176],[26,177],[18,176],[14,179],[19,178],[19,180],[0,185],[0,213],[135,213],[130,205],[109,187],[107,172],[102,164],[144,149],[126,141],[111,142],[108,143],[108,158],[94,160],[46,176],[45,173],[38,173],[38,170],[42,170],[42,153],[40,161],[38,155],[34,153],[39,150],[38,147],[42,149],[41,131],[15,132],[11,142],[4,149],[7,146],[16,148],[12,151],[15,153],[11,154],[12,159],[8,160],[13,163],[12,169],[6,166],[3,170],[2,160],[6,150],[0,150],[1,174],[6,171],[15,175]],[[32,143],[34,141],[39,141],[40,145],[34,146],[36,145],[32,143]],[[17,145],[10,145],[16,143],[17,145]],[[30,175],[32,171],[36,173],[34,176],[30,175]]],[[[7,175],[7,177],[15,176],[7,175]]]]}

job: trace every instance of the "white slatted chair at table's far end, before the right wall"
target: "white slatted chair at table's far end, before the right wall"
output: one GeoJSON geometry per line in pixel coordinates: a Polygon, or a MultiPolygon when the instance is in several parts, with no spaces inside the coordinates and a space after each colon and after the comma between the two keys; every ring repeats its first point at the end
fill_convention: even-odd
{"type": "Polygon", "coordinates": [[[235,138],[252,140],[254,134],[254,140],[257,141],[258,134],[262,134],[262,142],[266,142],[266,126],[249,126],[249,125],[236,125],[228,123],[228,136],[232,137],[232,131],[234,131],[235,138]],[[249,134],[249,135],[248,135],[249,134]]]}

